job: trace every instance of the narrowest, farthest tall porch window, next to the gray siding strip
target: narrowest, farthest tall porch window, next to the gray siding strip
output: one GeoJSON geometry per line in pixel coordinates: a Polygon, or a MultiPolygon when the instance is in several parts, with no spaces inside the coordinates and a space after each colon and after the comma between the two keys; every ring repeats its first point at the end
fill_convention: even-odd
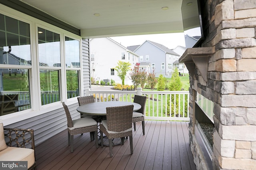
{"type": "Polygon", "coordinates": [[[66,86],[67,98],[80,96],[79,74],[80,74],[80,42],[65,37],[65,58],[66,58],[66,86]],[[72,70],[71,70],[72,68],[72,70]]]}

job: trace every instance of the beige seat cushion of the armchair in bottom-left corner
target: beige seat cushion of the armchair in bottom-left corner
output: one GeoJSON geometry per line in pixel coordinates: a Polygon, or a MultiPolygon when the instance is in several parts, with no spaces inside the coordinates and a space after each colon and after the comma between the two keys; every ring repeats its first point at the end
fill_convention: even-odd
{"type": "Polygon", "coordinates": [[[35,162],[35,154],[33,149],[7,147],[0,152],[1,161],[28,161],[28,168],[35,162]]]}

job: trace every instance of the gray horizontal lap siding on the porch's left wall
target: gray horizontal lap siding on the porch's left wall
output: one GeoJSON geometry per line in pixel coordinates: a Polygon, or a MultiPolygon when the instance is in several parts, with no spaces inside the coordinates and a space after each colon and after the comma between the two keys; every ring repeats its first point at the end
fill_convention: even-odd
{"type": "MultiPolygon", "coordinates": [[[[90,88],[90,67],[89,67],[89,42],[88,39],[82,41],[82,61],[83,61],[83,83],[84,89],[90,88]]],[[[62,106],[62,104],[60,103],[62,106]]],[[[68,106],[73,119],[78,119],[80,113],[76,111],[78,103],[68,106]]],[[[63,107],[48,113],[31,117],[24,121],[13,123],[5,127],[34,129],[35,145],[42,143],[46,139],[64,131],[67,128],[67,119],[63,107]]],[[[68,135],[67,135],[68,140],[68,135]]]]}

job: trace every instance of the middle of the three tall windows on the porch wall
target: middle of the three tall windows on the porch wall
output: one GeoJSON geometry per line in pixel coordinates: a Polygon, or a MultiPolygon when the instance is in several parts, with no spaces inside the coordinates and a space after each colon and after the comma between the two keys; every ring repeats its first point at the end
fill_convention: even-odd
{"type": "Polygon", "coordinates": [[[38,27],[41,104],[60,101],[60,35],[38,27]],[[52,69],[56,67],[56,69],[52,69]]]}

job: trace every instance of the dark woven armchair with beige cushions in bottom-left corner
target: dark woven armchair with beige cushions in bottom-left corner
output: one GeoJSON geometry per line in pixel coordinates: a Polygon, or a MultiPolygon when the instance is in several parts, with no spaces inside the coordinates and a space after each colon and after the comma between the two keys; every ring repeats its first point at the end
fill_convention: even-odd
{"type": "Polygon", "coordinates": [[[36,169],[33,129],[3,128],[0,123],[0,160],[28,161],[28,170],[36,169]]]}

